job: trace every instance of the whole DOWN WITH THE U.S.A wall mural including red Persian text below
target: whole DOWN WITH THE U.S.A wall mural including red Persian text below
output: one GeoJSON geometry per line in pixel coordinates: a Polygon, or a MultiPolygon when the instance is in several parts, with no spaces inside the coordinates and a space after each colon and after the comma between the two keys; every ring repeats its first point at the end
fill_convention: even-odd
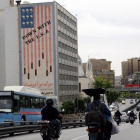
{"type": "Polygon", "coordinates": [[[52,5],[20,5],[21,85],[55,95],[56,64],[52,5]]]}

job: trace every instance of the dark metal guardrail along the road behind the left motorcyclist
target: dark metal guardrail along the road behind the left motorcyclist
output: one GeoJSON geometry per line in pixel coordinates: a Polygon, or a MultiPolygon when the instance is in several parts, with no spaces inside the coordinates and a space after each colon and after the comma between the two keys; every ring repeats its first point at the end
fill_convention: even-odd
{"type": "MultiPolygon", "coordinates": [[[[76,126],[85,126],[84,120],[73,121],[62,123],[62,128],[68,127],[76,127],[76,126]]],[[[20,132],[33,132],[35,130],[39,130],[39,126],[37,122],[5,122],[0,123],[0,135],[9,134],[10,136],[14,135],[14,133],[20,132]],[[22,124],[22,125],[19,125],[22,124]]]]}

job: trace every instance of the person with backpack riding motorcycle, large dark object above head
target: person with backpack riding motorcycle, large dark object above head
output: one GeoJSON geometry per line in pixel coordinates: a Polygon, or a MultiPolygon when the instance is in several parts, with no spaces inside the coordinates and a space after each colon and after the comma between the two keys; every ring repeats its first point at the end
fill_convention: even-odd
{"type": "Polygon", "coordinates": [[[108,119],[109,119],[109,116],[111,116],[111,112],[104,103],[100,102],[100,94],[94,95],[94,101],[88,104],[88,106],[86,108],[86,112],[92,111],[92,104],[94,104],[95,106],[99,106],[99,104],[101,104],[101,111],[104,114],[105,119],[106,119],[106,125],[105,125],[105,129],[104,129],[105,137],[106,137],[106,140],[110,140],[112,123],[109,122],[108,119]]]}

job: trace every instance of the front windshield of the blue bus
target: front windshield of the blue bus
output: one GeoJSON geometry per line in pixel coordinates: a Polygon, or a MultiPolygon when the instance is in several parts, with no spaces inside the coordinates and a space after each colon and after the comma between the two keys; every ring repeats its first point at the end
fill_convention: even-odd
{"type": "Polygon", "coordinates": [[[0,98],[0,112],[11,112],[12,100],[8,98],[0,98]]]}

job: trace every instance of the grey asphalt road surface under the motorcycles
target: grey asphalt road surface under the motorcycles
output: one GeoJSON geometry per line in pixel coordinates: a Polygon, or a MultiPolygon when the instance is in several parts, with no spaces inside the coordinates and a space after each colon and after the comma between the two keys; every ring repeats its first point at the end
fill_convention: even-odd
{"type": "MultiPolygon", "coordinates": [[[[126,101],[126,105],[120,105],[120,109],[125,109],[129,106],[129,100],[126,101]]],[[[139,140],[140,139],[140,124],[138,120],[131,125],[130,123],[121,123],[119,126],[120,133],[113,135],[111,140],[139,140]]],[[[41,140],[40,134],[27,133],[18,134],[12,137],[0,137],[0,140],[41,140]]],[[[86,127],[63,129],[62,135],[59,140],[88,140],[86,127]]]]}

